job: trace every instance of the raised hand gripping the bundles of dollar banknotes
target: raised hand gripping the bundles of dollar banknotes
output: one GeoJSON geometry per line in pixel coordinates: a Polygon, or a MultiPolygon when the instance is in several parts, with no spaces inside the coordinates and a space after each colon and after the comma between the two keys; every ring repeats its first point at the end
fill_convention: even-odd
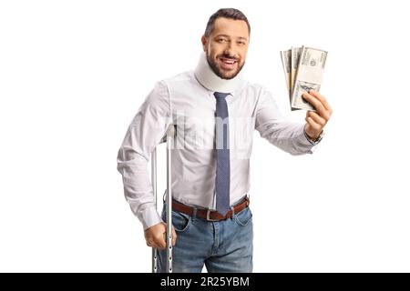
{"type": "Polygon", "coordinates": [[[326,98],[319,92],[310,90],[309,93],[304,92],[302,97],[316,109],[316,112],[309,110],[306,112],[306,125],[304,126],[306,135],[315,140],[322,133],[323,127],[329,121],[333,110],[327,103],[326,98]]]}

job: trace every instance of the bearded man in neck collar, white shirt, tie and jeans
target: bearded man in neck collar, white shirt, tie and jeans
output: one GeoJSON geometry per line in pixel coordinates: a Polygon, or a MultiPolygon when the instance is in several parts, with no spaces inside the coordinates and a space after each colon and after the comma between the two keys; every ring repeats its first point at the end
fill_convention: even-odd
{"type": "Polygon", "coordinates": [[[291,123],[264,87],[245,82],[241,69],[250,35],[241,11],[211,15],[196,69],[155,85],[118,151],[125,196],[143,224],[147,245],[162,250],[161,272],[167,260],[166,216],[163,211],[161,219],[155,209],[148,162],[169,125],[177,126],[179,142],[172,150],[173,271],[200,272],[205,264],[209,272],[251,272],[253,130],[292,155],[312,154],[332,115],[323,95],[312,91],[303,97],[316,112],[306,113],[305,124],[291,123]]]}

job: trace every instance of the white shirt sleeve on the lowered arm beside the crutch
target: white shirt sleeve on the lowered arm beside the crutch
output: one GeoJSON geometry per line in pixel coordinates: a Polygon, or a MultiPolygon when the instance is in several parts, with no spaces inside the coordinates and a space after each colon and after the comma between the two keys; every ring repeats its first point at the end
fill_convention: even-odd
{"type": "Polygon", "coordinates": [[[168,86],[160,81],[139,107],[118,150],[117,169],[122,175],[124,196],[144,230],[161,222],[155,207],[148,162],[170,123],[168,86]]]}

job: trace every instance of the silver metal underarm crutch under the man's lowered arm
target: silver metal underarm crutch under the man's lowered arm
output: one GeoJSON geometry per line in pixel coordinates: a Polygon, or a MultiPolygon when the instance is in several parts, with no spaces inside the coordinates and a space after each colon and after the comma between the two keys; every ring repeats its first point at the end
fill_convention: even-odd
{"type": "MultiPolygon", "coordinates": [[[[172,273],[172,191],[171,191],[171,148],[174,143],[176,130],[174,125],[169,125],[167,133],[161,143],[167,143],[167,273],[172,273]]],[[[154,194],[154,203],[157,208],[157,148],[151,154],[151,184],[154,194]]],[[[152,248],[152,273],[158,273],[158,249],[152,248]]]]}

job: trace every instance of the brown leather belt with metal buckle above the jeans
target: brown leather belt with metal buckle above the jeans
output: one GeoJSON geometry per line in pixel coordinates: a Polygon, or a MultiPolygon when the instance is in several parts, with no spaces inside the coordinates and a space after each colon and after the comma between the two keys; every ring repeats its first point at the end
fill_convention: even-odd
{"type": "MultiPolygon", "coordinates": [[[[241,203],[233,206],[233,211],[235,214],[240,213],[243,209],[249,206],[249,197],[246,196],[241,203]]],[[[181,213],[184,213],[189,216],[193,216],[194,207],[186,206],[178,201],[172,200],[172,209],[181,213]]],[[[227,212],[226,216],[222,216],[216,210],[197,208],[197,217],[206,219],[208,221],[219,221],[227,218],[231,218],[232,211],[231,209],[227,212]]]]}

